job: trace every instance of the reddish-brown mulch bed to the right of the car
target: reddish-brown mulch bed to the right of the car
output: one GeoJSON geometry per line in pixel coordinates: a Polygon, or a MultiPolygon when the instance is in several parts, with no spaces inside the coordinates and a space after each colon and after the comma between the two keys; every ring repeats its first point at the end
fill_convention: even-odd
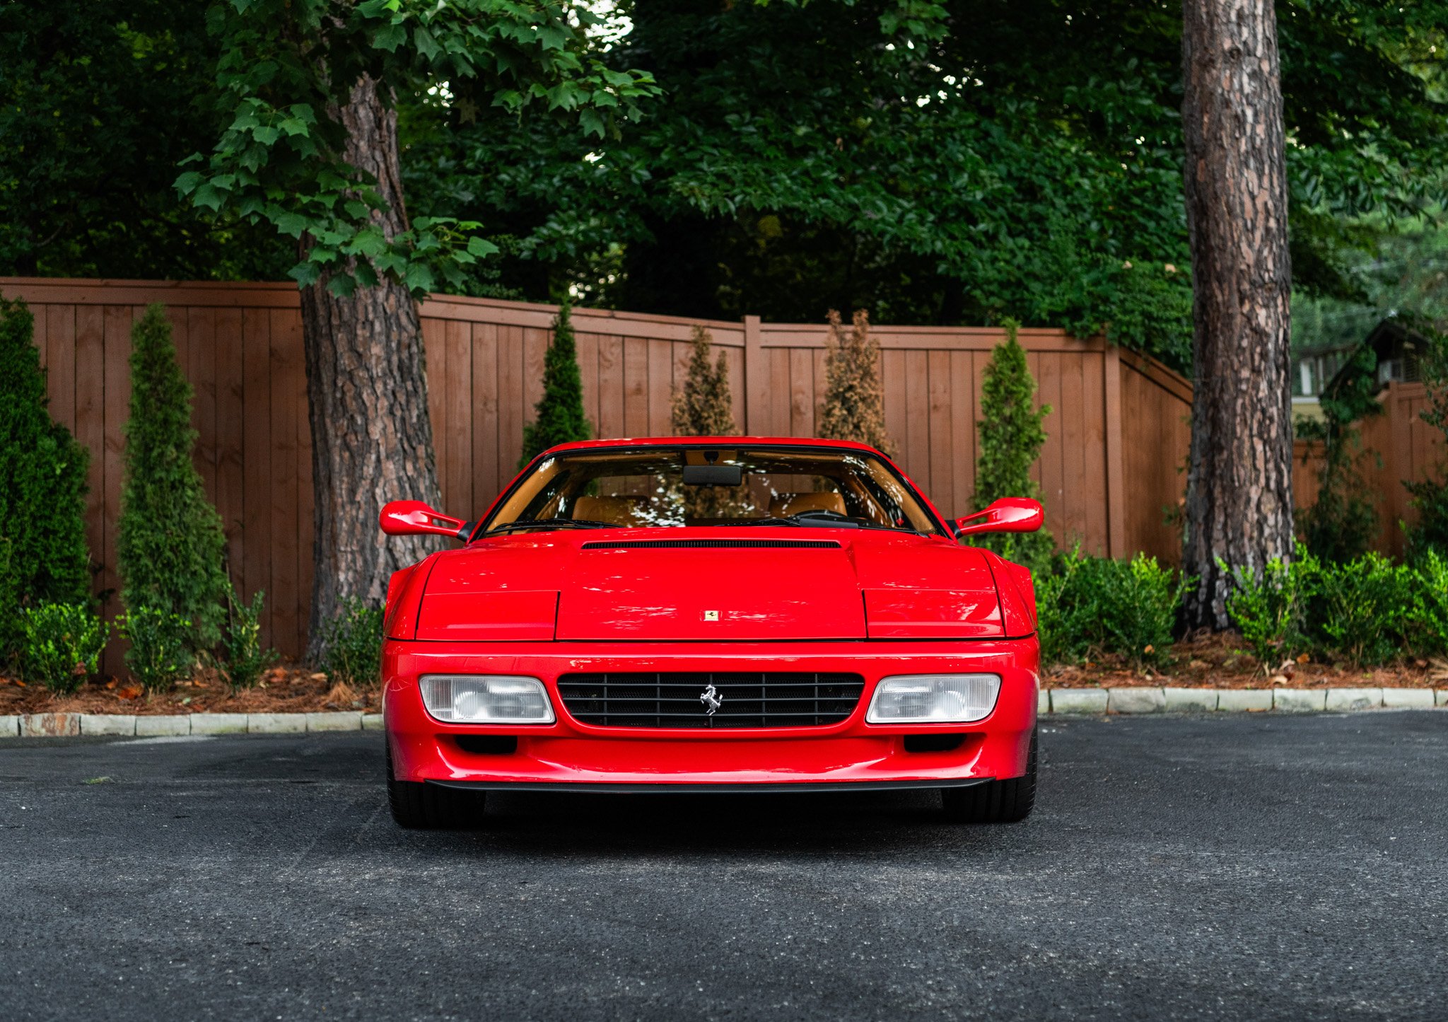
{"type": "Polygon", "coordinates": [[[1344,688],[1448,688],[1448,662],[1407,660],[1383,667],[1352,667],[1310,659],[1281,664],[1266,675],[1234,634],[1213,634],[1171,647],[1173,663],[1135,670],[1124,657],[1102,656],[1077,666],[1047,667],[1041,685],[1057,689],[1129,688],[1164,685],[1206,689],[1344,689],[1344,688]]]}

